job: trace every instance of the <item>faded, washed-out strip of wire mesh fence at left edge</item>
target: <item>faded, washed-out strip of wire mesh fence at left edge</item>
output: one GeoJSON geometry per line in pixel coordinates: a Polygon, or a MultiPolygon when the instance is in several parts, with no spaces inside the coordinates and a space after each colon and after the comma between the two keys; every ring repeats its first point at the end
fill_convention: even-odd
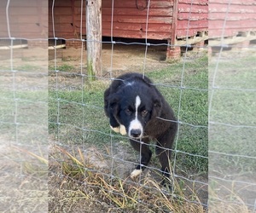
{"type": "Polygon", "coordinates": [[[1,212],[48,210],[48,37],[27,33],[37,3],[0,3],[1,212]],[[29,42],[44,49],[27,49],[29,42]]]}

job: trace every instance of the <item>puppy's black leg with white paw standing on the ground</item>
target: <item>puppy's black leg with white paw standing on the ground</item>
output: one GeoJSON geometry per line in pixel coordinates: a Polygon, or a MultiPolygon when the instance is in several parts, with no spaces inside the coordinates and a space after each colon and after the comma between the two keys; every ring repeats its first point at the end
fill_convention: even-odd
{"type": "Polygon", "coordinates": [[[143,170],[145,169],[145,165],[148,165],[150,158],[152,156],[152,152],[150,151],[148,147],[148,138],[143,139],[143,144],[140,143],[140,141],[135,141],[130,139],[131,146],[138,152],[142,154],[140,159],[140,164],[137,165],[136,169],[131,172],[131,179],[136,178],[139,176],[143,170]]]}

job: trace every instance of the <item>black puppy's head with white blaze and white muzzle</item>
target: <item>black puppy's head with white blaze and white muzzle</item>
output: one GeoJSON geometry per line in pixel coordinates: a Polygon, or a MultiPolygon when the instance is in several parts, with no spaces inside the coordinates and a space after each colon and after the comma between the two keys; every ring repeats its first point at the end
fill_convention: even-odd
{"type": "Polygon", "coordinates": [[[129,137],[141,139],[151,118],[160,116],[161,101],[157,95],[126,91],[114,94],[109,107],[114,118],[125,126],[129,137]]]}

